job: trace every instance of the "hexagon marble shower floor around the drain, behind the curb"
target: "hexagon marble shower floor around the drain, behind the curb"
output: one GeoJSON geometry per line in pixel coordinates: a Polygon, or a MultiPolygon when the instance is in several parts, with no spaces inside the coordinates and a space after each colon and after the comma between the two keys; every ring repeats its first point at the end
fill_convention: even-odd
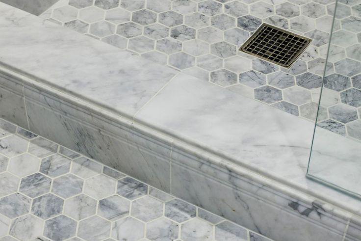
{"type": "Polygon", "coordinates": [[[326,66],[319,125],[361,140],[361,2],[337,4],[328,63],[335,0],[60,0],[41,17],[312,121],[326,66]],[[262,23],[313,41],[290,69],[238,51],[262,23]]]}

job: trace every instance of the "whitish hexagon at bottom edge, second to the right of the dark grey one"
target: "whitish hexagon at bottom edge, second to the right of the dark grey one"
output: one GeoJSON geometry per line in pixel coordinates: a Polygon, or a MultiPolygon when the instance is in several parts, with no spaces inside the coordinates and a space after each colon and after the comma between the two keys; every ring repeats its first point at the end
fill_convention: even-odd
{"type": "Polygon", "coordinates": [[[144,236],[144,224],[132,217],[119,219],[113,223],[111,237],[115,240],[137,241],[144,236]]]}

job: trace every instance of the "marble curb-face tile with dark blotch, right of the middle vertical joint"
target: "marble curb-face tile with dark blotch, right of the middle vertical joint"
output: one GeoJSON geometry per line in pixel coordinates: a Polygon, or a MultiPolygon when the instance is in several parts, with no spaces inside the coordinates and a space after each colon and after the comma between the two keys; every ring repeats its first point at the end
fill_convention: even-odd
{"type": "Polygon", "coordinates": [[[207,161],[189,159],[177,150],[173,153],[174,195],[274,240],[342,241],[347,220],[327,214],[317,202],[306,204],[270,192],[249,180],[242,181],[228,168],[217,171],[207,161]],[[254,196],[256,189],[258,195],[254,196]]]}

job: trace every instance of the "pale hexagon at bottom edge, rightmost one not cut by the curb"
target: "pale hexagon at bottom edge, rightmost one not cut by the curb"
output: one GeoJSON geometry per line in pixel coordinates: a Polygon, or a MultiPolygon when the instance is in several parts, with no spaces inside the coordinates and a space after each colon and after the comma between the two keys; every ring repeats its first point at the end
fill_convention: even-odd
{"type": "Polygon", "coordinates": [[[189,241],[211,241],[214,238],[213,229],[214,227],[210,223],[199,218],[193,218],[181,224],[180,237],[189,241]]]}

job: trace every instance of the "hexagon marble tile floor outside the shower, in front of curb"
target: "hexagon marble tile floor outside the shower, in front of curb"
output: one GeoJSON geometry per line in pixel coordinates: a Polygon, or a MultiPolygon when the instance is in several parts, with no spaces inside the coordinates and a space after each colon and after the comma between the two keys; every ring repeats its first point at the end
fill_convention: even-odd
{"type": "Polygon", "coordinates": [[[2,119],[0,184],[0,241],[271,241],[2,119]]]}

